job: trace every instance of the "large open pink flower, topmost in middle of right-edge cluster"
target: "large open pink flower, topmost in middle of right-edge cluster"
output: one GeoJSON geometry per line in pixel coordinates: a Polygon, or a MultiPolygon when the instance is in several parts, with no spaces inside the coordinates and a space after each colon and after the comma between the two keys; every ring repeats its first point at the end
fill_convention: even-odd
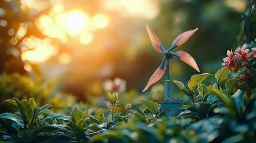
{"type": "Polygon", "coordinates": [[[238,61],[242,64],[242,66],[246,66],[249,58],[252,55],[252,52],[249,52],[249,49],[246,49],[246,44],[243,44],[242,48],[238,47],[234,52],[238,61]]]}

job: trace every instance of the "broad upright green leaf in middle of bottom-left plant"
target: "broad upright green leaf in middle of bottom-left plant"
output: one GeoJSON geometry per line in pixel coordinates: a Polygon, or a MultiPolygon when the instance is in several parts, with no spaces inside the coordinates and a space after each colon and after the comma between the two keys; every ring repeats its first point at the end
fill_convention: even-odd
{"type": "Polygon", "coordinates": [[[31,104],[29,104],[29,102],[26,100],[22,100],[20,104],[23,108],[23,114],[25,115],[26,122],[30,124],[34,117],[33,108],[31,107],[31,104]]]}

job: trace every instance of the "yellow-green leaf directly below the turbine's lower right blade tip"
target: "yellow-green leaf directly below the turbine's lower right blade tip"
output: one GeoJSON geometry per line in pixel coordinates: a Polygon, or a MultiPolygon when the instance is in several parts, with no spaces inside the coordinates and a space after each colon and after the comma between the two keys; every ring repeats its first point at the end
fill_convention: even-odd
{"type": "Polygon", "coordinates": [[[203,80],[208,76],[213,75],[209,73],[203,73],[192,76],[191,79],[188,81],[188,88],[190,88],[191,91],[194,91],[194,88],[196,88],[196,86],[203,82],[203,80]]]}

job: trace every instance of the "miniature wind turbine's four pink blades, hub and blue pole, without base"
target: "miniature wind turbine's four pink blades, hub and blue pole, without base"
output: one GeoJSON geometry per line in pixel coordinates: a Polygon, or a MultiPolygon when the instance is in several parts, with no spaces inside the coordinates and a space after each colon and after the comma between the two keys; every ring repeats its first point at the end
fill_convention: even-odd
{"type": "Polygon", "coordinates": [[[170,101],[169,60],[173,56],[179,58],[180,60],[184,61],[185,63],[187,63],[188,65],[193,67],[195,70],[200,72],[199,68],[197,67],[196,61],[194,60],[193,57],[191,57],[190,54],[188,54],[187,52],[184,52],[184,51],[178,51],[176,53],[171,52],[172,49],[185,43],[197,31],[198,28],[196,28],[194,30],[188,30],[188,31],[183,32],[180,35],[178,35],[174,39],[172,46],[170,46],[170,48],[166,51],[163,48],[163,45],[161,45],[157,36],[150,29],[148,24],[146,24],[146,27],[147,27],[148,35],[150,36],[150,41],[151,41],[153,47],[156,49],[157,52],[159,52],[159,53],[163,52],[164,58],[160,64],[160,67],[150,77],[150,80],[148,81],[147,85],[145,86],[143,92],[146,91],[151,85],[153,85],[153,83],[156,83],[159,79],[161,79],[163,74],[166,72],[166,98],[164,99],[164,101],[170,101]]]}

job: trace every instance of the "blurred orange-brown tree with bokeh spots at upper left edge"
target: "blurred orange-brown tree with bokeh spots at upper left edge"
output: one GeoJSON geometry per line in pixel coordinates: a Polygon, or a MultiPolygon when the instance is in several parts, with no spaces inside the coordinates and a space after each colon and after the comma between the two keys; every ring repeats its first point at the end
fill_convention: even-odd
{"type": "Polygon", "coordinates": [[[48,7],[29,9],[19,0],[0,1],[0,73],[19,72],[25,74],[23,68],[22,42],[23,39],[34,35],[44,38],[34,25],[34,20],[48,7]]]}

